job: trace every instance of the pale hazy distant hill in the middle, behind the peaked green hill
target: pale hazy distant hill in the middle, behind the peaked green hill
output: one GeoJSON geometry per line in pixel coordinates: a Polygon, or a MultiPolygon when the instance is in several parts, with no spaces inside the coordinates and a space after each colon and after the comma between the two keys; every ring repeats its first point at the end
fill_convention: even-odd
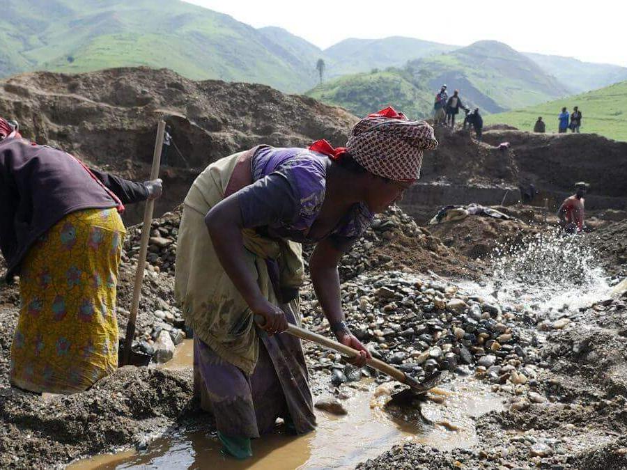
{"type": "Polygon", "coordinates": [[[398,36],[383,39],[350,38],[325,49],[329,77],[400,67],[414,58],[440,54],[458,46],[398,36]]]}

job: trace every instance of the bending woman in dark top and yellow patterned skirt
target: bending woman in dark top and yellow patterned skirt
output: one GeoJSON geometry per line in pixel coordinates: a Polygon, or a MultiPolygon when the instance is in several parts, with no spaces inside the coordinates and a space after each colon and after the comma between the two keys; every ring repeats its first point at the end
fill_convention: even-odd
{"type": "Polygon", "coordinates": [[[20,275],[13,386],[75,393],[116,370],[119,213],[161,191],[161,180],[127,181],[35,145],[0,118],[0,248],[6,281],[20,275]]]}

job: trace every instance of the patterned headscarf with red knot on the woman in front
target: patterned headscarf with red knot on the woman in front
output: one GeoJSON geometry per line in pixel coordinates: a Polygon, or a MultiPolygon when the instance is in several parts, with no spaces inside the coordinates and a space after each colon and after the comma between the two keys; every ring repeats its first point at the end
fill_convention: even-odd
{"type": "Polygon", "coordinates": [[[327,141],[309,148],[340,159],[348,152],[370,173],[396,181],[420,177],[422,152],[438,147],[433,127],[421,120],[409,120],[392,107],[364,118],[350,132],[346,148],[333,148],[327,141]]]}

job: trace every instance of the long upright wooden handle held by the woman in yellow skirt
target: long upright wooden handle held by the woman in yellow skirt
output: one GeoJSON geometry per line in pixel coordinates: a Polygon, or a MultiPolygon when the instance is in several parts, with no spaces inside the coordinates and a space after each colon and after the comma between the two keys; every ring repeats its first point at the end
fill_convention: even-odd
{"type": "MultiPolygon", "coordinates": [[[[155,152],[153,153],[153,166],[150,169],[150,180],[159,178],[159,167],[161,165],[161,151],[163,138],[165,135],[165,121],[160,120],[157,126],[157,139],[155,141],[155,152]]],[[[133,286],[133,303],[130,317],[126,324],[126,338],[124,341],[124,355],[122,366],[128,363],[133,338],[135,336],[135,322],[137,321],[137,311],[139,311],[139,298],[141,297],[141,284],[144,281],[144,269],[146,267],[146,253],[148,252],[148,239],[150,238],[150,226],[153,222],[153,210],[155,201],[146,201],[144,209],[144,224],[141,226],[141,240],[139,242],[139,255],[137,257],[137,272],[135,273],[135,285],[133,286]]]]}

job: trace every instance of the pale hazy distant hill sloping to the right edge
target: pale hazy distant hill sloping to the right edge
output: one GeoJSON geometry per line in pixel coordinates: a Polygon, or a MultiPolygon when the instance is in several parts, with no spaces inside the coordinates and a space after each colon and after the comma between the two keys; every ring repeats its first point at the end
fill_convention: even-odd
{"type": "Polygon", "coordinates": [[[582,62],[572,57],[524,54],[558,79],[571,93],[596,90],[627,80],[627,68],[620,65],[582,62]]]}

